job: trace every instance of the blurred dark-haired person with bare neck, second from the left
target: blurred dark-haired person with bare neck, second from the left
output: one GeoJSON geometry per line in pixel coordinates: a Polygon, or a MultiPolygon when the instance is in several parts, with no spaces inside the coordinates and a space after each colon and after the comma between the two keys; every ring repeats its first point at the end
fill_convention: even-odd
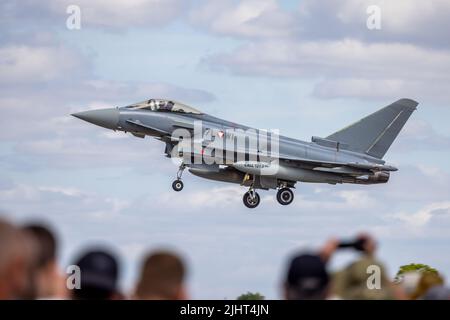
{"type": "Polygon", "coordinates": [[[58,268],[56,238],[49,228],[30,224],[23,227],[35,243],[34,262],[30,281],[33,282],[35,297],[39,299],[65,299],[65,281],[58,268]]]}

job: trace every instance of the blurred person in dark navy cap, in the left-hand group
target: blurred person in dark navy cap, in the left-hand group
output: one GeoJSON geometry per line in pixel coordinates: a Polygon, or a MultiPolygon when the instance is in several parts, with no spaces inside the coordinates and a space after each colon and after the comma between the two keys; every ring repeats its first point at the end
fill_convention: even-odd
{"type": "Polygon", "coordinates": [[[105,250],[92,250],[83,254],[75,263],[81,271],[81,288],[72,290],[76,300],[122,299],[118,290],[119,264],[105,250]]]}

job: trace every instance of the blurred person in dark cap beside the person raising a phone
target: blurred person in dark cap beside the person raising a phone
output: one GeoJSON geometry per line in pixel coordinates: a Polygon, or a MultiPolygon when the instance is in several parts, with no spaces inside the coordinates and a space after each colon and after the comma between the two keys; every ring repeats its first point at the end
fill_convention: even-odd
{"type": "Polygon", "coordinates": [[[300,254],[291,259],[284,280],[287,300],[323,300],[329,295],[330,277],[326,263],[336,249],[337,241],[329,240],[316,254],[300,254]]]}

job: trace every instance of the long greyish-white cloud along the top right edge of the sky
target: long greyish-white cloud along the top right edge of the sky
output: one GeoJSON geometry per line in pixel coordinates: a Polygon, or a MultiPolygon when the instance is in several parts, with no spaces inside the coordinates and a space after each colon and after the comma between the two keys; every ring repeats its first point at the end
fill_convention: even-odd
{"type": "Polygon", "coordinates": [[[193,8],[190,22],[236,37],[293,37],[295,40],[360,39],[367,42],[409,42],[448,46],[450,5],[446,0],[305,0],[296,11],[279,1],[206,2],[193,8]],[[368,6],[381,10],[381,30],[368,30],[368,6]]]}

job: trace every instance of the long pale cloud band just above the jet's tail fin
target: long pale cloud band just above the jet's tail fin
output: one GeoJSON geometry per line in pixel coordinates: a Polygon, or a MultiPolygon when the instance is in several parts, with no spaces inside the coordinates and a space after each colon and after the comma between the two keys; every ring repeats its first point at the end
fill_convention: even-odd
{"type": "Polygon", "coordinates": [[[450,83],[450,52],[410,44],[267,40],[209,56],[204,62],[234,74],[313,79],[314,94],[321,98],[406,96],[450,101],[445,90],[450,83]]]}

